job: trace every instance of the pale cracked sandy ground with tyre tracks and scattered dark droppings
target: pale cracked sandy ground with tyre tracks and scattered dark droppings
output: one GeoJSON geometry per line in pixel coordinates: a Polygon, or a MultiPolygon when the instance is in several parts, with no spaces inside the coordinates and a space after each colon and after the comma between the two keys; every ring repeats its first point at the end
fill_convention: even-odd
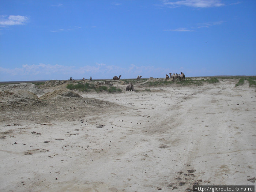
{"type": "Polygon", "coordinates": [[[122,93],[76,92],[82,97],[2,106],[0,191],[255,185],[256,92],[237,82],[138,92],[119,84],[122,93]]]}

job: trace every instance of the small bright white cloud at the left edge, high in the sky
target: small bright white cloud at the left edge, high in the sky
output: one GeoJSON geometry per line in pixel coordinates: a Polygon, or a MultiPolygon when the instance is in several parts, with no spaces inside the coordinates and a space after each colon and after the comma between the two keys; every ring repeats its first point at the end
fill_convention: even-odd
{"type": "Polygon", "coordinates": [[[0,16],[0,26],[11,26],[11,25],[25,25],[29,21],[29,18],[26,16],[20,15],[10,15],[0,16]]]}

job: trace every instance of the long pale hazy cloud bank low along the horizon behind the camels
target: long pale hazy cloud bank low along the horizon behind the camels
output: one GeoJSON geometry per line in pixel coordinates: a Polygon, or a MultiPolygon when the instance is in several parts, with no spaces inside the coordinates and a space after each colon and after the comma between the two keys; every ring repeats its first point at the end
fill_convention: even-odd
{"type": "MultiPolygon", "coordinates": [[[[172,69],[173,70],[173,69],[172,69]]],[[[121,78],[136,78],[142,75],[144,78],[150,76],[154,78],[165,77],[165,74],[172,71],[170,68],[161,68],[154,66],[136,66],[129,65],[120,67],[117,65],[108,65],[95,63],[83,67],[50,65],[50,64],[33,64],[22,65],[20,68],[3,68],[0,67],[0,81],[19,81],[19,80],[50,80],[50,79],[112,79],[113,76],[122,75],[121,78]]],[[[174,71],[179,71],[176,69],[174,71]]]]}

